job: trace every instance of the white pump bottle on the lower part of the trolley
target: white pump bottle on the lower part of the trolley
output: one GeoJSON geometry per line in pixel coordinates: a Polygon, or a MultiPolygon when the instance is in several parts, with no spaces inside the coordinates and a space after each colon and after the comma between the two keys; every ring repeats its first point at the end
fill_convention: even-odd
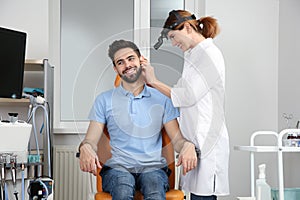
{"type": "Polygon", "coordinates": [[[266,164],[258,166],[259,175],[256,179],[256,200],[271,200],[271,187],[266,182],[266,164]]]}

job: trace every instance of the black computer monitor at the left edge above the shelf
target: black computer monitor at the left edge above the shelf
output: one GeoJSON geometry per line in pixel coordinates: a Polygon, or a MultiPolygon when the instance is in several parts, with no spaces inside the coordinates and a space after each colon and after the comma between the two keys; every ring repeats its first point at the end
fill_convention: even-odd
{"type": "Polygon", "coordinates": [[[22,97],[26,36],[0,27],[0,98],[22,97]]]}

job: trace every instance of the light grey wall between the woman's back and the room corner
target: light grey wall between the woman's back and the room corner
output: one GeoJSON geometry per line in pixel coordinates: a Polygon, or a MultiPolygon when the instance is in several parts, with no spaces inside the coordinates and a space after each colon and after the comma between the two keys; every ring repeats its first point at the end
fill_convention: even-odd
{"type": "MultiPolygon", "coordinates": [[[[279,2],[209,0],[206,15],[216,17],[221,25],[216,42],[227,70],[225,112],[231,144],[231,195],[222,199],[229,200],[250,196],[250,154],[233,147],[249,145],[250,135],[256,130],[277,131],[279,2]]],[[[257,163],[267,163],[268,181],[275,185],[275,157],[257,157],[257,163]]]]}

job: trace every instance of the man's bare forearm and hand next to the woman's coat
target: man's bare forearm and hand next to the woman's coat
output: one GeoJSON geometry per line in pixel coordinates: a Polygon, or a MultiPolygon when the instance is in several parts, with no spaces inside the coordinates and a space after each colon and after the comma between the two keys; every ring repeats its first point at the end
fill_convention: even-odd
{"type": "Polygon", "coordinates": [[[195,145],[183,138],[176,119],[164,124],[164,128],[171,139],[179,158],[176,166],[182,165],[183,175],[197,166],[195,145]]]}

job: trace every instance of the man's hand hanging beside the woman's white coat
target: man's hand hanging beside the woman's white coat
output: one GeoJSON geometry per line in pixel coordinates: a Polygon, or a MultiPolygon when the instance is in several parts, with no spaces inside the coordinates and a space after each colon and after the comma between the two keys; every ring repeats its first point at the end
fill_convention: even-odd
{"type": "Polygon", "coordinates": [[[182,174],[186,175],[187,172],[197,167],[197,154],[195,145],[191,142],[185,142],[182,150],[179,153],[176,167],[182,167],[182,174]]]}

